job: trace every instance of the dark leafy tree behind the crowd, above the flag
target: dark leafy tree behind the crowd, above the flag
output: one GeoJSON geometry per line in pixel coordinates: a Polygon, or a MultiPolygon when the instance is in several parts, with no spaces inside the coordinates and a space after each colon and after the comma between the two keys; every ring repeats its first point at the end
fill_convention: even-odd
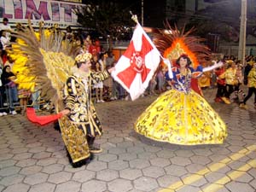
{"type": "Polygon", "coordinates": [[[131,7],[118,1],[90,0],[87,4],[75,10],[78,23],[85,28],[95,30],[103,38],[108,38],[109,49],[113,47],[113,39],[129,36],[132,26],[131,7]]]}

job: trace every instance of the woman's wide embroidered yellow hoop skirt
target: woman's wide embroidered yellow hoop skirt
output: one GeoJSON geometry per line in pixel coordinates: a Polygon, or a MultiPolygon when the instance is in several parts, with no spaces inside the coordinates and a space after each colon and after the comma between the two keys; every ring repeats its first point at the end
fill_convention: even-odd
{"type": "Polygon", "coordinates": [[[181,145],[218,144],[226,125],[207,101],[191,90],[168,90],[137,119],[135,131],[160,142],[181,145]]]}

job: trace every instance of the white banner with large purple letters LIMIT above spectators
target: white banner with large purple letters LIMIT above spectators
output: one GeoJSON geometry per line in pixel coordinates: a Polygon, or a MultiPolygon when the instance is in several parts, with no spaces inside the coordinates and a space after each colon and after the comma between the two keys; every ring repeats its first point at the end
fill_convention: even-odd
{"type": "Polygon", "coordinates": [[[41,20],[44,20],[44,26],[53,26],[55,23],[61,28],[78,26],[73,9],[81,5],[51,0],[0,0],[0,18],[8,18],[10,26],[15,26],[17,22],[27,23],[30,15],[33,26],[38,26],[41,20]]]}

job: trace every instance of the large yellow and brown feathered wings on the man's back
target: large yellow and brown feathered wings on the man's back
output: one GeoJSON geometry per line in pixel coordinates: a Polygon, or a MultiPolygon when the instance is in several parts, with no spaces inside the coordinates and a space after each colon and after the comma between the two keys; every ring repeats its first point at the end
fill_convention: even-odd
{"type": "MultiPolygon", "coordinates": [[[[77,44],[64,40],[61,32],[44,29],[40,26],[39,32],[29,27],[13,35],[18,39],[10,55],[22,55],[22,62],[15,62],[16,70],[22,68],[35,90],[41,90],[41,97],[45,101],[57,102],[61,99],[61,89],[71,74],[74,66],[74,57],[78,53],[77,44]]],[[[32,86],[32,87],[33,87],[32,86]]]]}

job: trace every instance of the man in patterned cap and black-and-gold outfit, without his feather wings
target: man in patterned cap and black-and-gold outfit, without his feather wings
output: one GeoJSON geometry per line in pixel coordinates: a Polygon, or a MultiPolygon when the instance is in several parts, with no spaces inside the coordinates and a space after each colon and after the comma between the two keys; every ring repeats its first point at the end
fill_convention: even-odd
{"type": "Polygon", "coordinates": [[[91,100],[91,87],[93,84],[107,79],[113,68],[108,69],[109,73],[107,70],[91,73],[90,60],[90,53],[82,53],[75,57],[76,67],[73,67],[73,74],[68,77],[64,88],[65,109],[61,113],[67,115],[68,120],[66,117],[62,117],[59,122],[61,134],[66,132],[64,137],[69,136],[65,143],[73,166],[79,166],[81,164],[79,163],[80,159],[88,158],[90,153],[102,152],[102,148],[96,148],[93,145],[96,136],[102,135],[102,125],[91,100]],[[73,127],[73,131],[70,131],[71,127],[73,127]],[[70,135],[73,137],[70,138],[70,135]],[[82,141],[83,143],[81,143],[82,141]],[[85,148],[86,142],[88,149],[85,148]],[[81,155],[81,151],[83,151],[84,156],[81,155]]]}

